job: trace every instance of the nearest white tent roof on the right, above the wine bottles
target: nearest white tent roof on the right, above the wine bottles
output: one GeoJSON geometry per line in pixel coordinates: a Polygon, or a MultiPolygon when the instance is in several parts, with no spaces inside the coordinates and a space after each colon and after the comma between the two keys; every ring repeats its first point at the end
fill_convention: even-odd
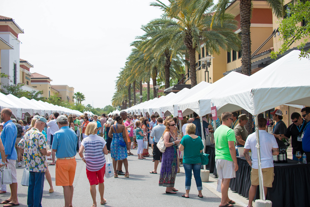
{"type": "Polygon", "coordinates": [[[294,50],[248,77],[240,90],[212,98],[218,114],[245,109],[253,115],[282,104],[309,105],[310,61],[294,50]]]}

